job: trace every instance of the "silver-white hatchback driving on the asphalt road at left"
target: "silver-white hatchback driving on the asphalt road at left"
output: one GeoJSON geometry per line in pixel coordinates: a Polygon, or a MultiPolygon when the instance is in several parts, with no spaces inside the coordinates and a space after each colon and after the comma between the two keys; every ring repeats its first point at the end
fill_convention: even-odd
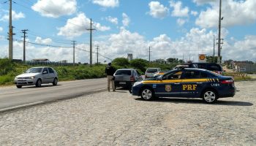
{"type": "Polygon", "coordinates": [[[42,84],[52,83],[58,84],[58,74],[51,67],[32,67],[23,74],[15,77],[15,85],[21,88],[23,85],[36,85],[41,87],[42,84]]]}

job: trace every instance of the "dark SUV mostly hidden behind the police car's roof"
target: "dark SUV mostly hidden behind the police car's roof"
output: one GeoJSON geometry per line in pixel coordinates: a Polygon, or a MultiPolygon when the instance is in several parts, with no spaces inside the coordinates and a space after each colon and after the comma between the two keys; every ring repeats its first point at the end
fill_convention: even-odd
{"type": "Polygon", "coordinates": [[[197,68],[197,69],[207,69],[212,72],[216,72],[218,74],[223,74],[222,66],[215,63],[186,63],[181,64],[175,67],[175,69],[178,68],[197,68]]]}

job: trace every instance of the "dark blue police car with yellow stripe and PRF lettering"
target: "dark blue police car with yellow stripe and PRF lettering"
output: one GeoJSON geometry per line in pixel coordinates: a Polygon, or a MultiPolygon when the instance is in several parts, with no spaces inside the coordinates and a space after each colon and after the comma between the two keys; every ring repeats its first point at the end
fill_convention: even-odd
{"type": "Polygon", "coordinates": [[[159,77],[135,82],[132,95],[144,100],[157,97],[202,98],[214,103],[236,93],[233,77],[222,76],[206,69],[173,69],[159,77]]]}

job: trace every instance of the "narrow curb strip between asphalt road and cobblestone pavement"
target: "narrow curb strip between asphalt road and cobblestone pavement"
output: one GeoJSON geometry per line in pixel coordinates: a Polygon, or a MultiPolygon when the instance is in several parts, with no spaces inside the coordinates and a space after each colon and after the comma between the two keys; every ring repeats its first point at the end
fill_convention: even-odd
{"type": "Polygon", "coordinates": [[[82,92],[82,93],[76,93],[76,94],[64,96],[64,97],[61,97],[60,99],[54,99],[54,100],[48,100],[48,101],[36,101],[36,102],[28,103],[28,104],[21,104],[21,105],[16,105],[16,106],[13,106],[13,107],[6,107],[6,108],[3,108],[3,109],[0,109],[0,114],[2,114],[4,112],[12,112],[14,110],[22,110],[22,109],[34,107],[34,106],[37,106],[37,105],[51,104],[51,103],[58,102],[58,101],[64,101],[64,100],[68,100],[68,99],[75,99],[75,98],[78,98],[78,97],[81,97],[81,96],[88,96],[90,94],[99,93],[99,92],[103,92],[103,91],[106,91],[106,90],[107,90],[107,88],[102,88],[102,89],[97,89],[97,90],[94,90],[94,91],[82,92]]]}

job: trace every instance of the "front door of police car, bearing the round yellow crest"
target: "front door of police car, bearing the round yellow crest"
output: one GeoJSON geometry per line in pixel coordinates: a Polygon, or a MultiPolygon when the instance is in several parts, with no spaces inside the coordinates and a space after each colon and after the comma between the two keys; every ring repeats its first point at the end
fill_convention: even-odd
{"type": "Polygon", "coordinates": [[[164,74],[157,82],[156,95],[160,97],[180,96],[181,71],[164,74]]]}

